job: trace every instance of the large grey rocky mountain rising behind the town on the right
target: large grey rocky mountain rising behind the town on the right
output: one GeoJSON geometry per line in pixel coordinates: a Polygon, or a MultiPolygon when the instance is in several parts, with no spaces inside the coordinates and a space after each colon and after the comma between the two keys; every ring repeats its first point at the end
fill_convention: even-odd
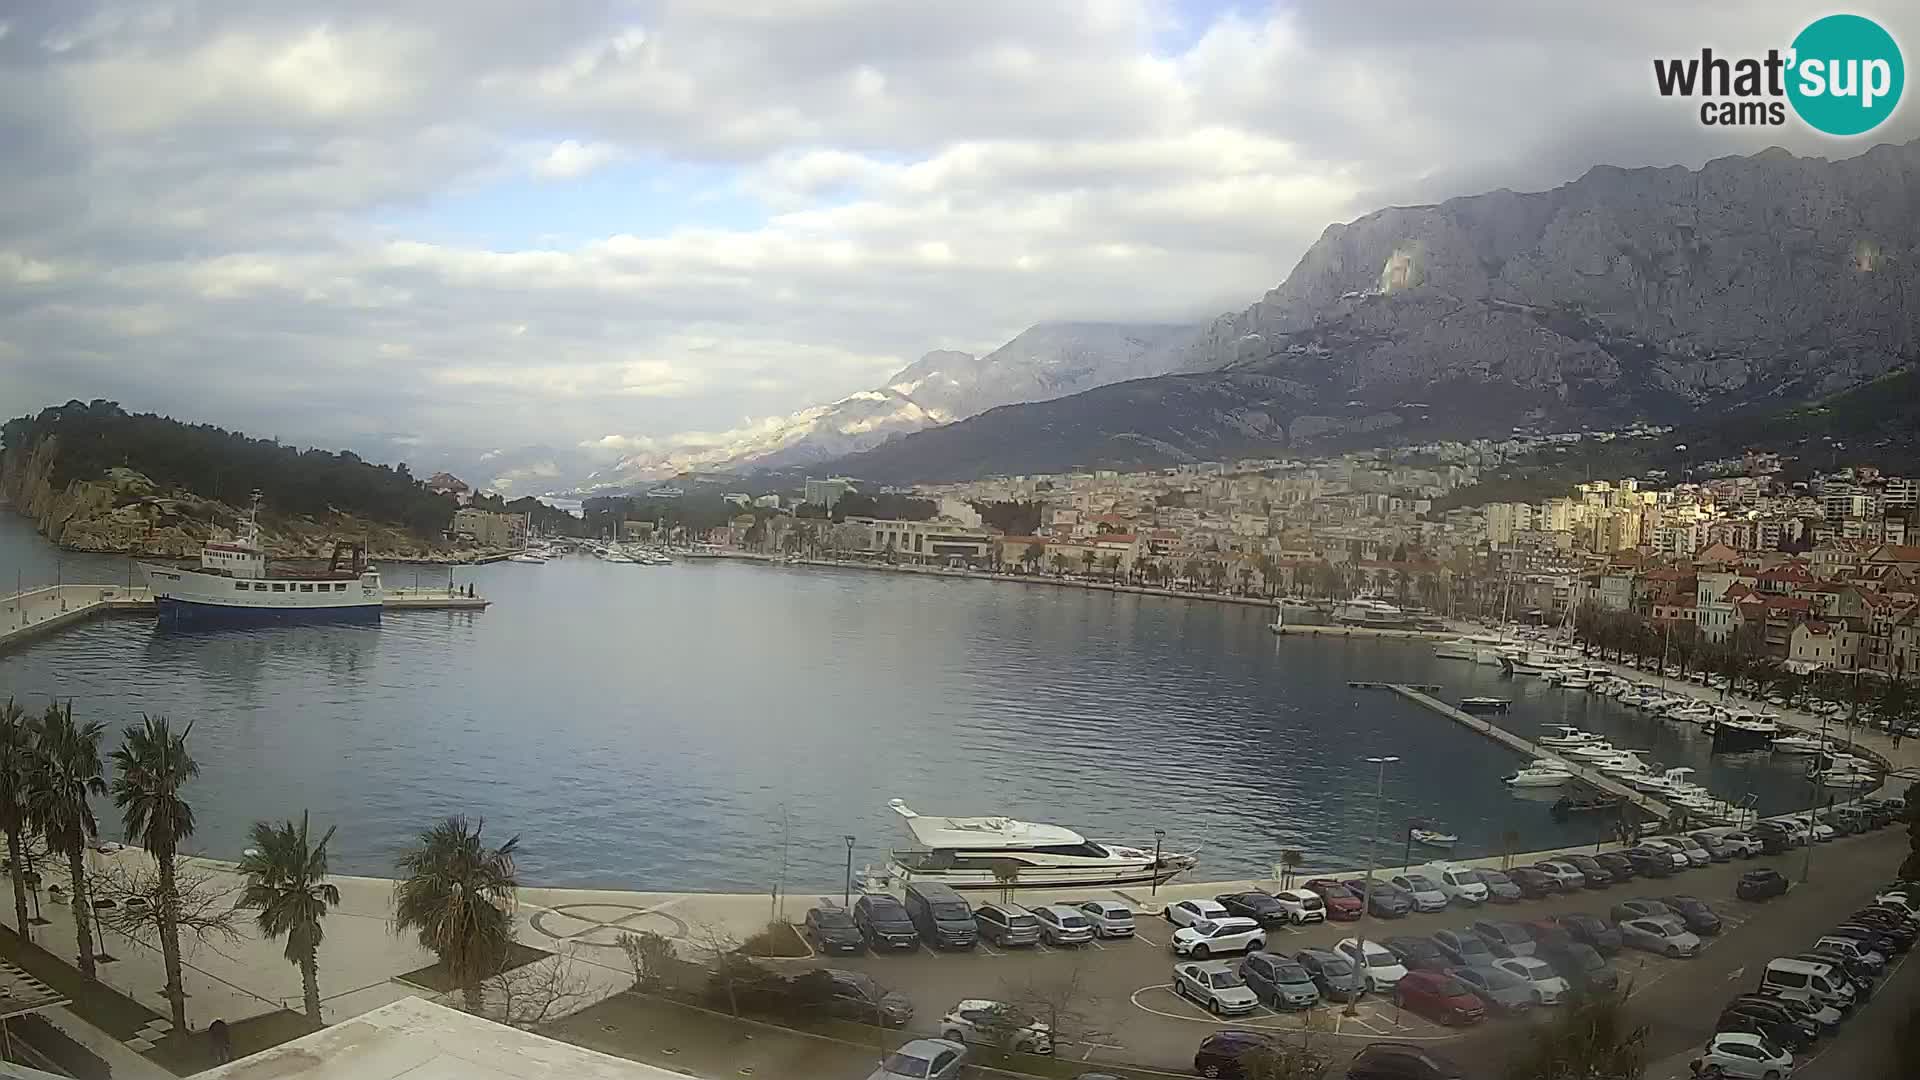
{"type": "Polygon", "coordinates": [[[952,480],[1684,423],[1876,379],[1916,338],[1920,142],[1596,167],[1548,192],[1332,225],[1173,375],[989,411],[835,469],[952,480]]]}

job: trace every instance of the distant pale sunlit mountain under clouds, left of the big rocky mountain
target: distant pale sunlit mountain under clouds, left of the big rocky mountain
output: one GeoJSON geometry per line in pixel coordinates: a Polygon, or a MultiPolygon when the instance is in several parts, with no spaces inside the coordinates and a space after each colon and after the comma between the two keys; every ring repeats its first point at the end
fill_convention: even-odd
{"type": "Polygon", "coordinates": [[[935,350],[874,390],[726,432],[710,444],[643,448],[595,471],[582,488],[622,488],[691,469],[783,469],[837,459],[996,405],[1173,371],[1196,332],[1198,327],[1160,323],[1041,323],[987,356],[935,350]]]}

